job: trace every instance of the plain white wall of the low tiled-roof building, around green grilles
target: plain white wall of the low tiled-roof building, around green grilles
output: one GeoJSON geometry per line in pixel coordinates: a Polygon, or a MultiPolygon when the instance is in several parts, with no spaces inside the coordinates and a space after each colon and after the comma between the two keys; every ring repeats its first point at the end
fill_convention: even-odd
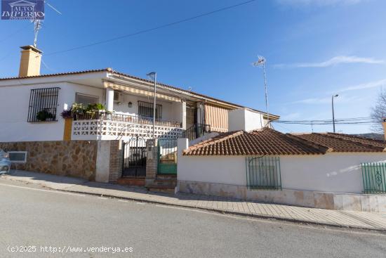
{"type": "MultiPolygon", "coordinates": [[[[184,156],[180,139],[178,181],[246,186],[245,156],[184,156]]],[[[328,153],[280,156],[281,187],[334,193],[364,191],[361,162],[386,162],[386,154],[328,153]]]]}

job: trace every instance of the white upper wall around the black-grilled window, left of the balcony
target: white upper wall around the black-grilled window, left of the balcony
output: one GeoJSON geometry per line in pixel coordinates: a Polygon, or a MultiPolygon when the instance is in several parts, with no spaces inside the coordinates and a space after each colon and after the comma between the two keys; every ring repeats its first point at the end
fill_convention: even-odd
{"type": "Polygon", "coordinates": [[[64,120],[60,112],[75,102],[75,93],[100,96],[102,89],[69,82],[0,86],[0,141],[60,141],[63,138],[64,120]],[[58,94],[58,122],[27,122],[31,89],[60,87],[58,94]]]}

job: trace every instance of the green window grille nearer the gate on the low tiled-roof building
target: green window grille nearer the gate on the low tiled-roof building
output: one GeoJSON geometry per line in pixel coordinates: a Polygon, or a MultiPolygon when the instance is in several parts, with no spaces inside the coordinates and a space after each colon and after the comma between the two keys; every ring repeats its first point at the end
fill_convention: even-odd
{"type": "Polygon", "coordinates": [[[281,190],[279,157],[246,157],[248,189],[281,190]]]}

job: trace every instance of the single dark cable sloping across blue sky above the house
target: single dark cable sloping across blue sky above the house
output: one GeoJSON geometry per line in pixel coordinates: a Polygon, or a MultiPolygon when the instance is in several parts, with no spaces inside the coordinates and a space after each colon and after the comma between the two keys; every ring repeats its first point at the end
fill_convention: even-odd
{"type": "Polygon", "coordinates": [[[224,8],[220,8],[220,9],[217,9],[215,11],[210,11],[208,13],[202,13],[200,15],[196,15],[196,16],[193,16],[193,17],[190,17],[190,18],[185,18],[185,19],[178,20],[178,21],[175,21],[175,22],[166,23],[164,25],[160,25],[160,26],[157,26],[157,27],[152,27],[152,28],[149,28],[149,29],[140,30],[138,32],[133,32],[133,33],[130,33],[130,34],[125,34],[125,35],[122,35],[122,36],[119,36],[119,37],[114,37],[112,39],[105,39],[105,40],[102,40],[102,41],[97,41],[97,42],[94,42],[94,43],[91,43],[91,44],[86,44],[86,45],[83,45],[83,46],[74,46],[71,49],[65,49],[65,50],[61,50],[61,51],[47,53],[45,56],[51,56],[51,55],[55,55],[55,54],[58,54],[58,53],[65,53],[65,52],[74,51],[74,50],[77,50],[77,49],[85,49],[85,48],[87,48],[89,46],[96,46],[96,45],[100,45],[100,44],[105,44],[107,42],[116,41],[116,40],[119,40],[119,39],[124,39],[124,38],[127,38],[127,37],[133,37],[133,36],[138,35],[138,34],[143,34],[143,33],[146,33],[146,32],[152,32],[154,30],[159,30],[159,29],[162,29],[164,27],[170,27],[170,26],[173,26],[173,25],[177,25],[178,23],[187,22],[189,20],[195,20],[197,18],[201,18],[201,17],[204,17],[204,16],[212,15],[213,13],[219,13],[221,11],[226,11],[226,10],[228,10],[230,8],[234,8],[234,7],[238,7],[238,6],[244,6],[245,4],[250,4],[250,3],[254,2],[254,1],[256,1],[256,0],[244,1],[242,3],[234,4],[232,6],[226,6],[224,8]]]}

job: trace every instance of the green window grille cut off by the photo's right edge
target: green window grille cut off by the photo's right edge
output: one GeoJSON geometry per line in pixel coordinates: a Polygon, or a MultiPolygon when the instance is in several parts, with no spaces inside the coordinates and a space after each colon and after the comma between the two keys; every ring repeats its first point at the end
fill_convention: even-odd
{"type": "Polygon", "coordinates": [[[386,163],[362,163],[364,193],[386,193],[386,163]]]}

